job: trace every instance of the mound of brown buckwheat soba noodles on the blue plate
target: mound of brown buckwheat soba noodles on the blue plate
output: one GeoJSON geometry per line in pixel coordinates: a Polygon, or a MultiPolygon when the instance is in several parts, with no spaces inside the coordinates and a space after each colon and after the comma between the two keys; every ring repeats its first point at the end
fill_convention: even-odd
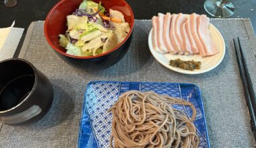
{"type": "Polygon", "coordinates": [[[127,91],[109,109],[113,114],[110,147],[198,147],[193,124],[193,104],[179,98],[160,96],[152,91],[127,91]],[[193,116],[172,104],[190,106],[193,116]]]}

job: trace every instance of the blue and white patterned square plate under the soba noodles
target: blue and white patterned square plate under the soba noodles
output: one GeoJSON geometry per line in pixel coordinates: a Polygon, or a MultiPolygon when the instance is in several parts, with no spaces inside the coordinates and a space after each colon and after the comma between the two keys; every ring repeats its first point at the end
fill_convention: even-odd
{"type": "MultiPolygon", "coordinates": [[[[112,115],[107,112],[121,94],[129,90],[155,91],[157,94],[183,98],[195,106],[197,116],[194,124],[197,128],[201,148],[210,148],[207,133],[205,113],[199,87],[189,83],[148,83],[148,82],[118,82],[93,81],[86,87],[84,107],[79,131],[78,147],[109,147],[112,115]]],[[[187,116],[192,115],[188,106],[175,105],[174,108],[183,110],[187,116]]]]}

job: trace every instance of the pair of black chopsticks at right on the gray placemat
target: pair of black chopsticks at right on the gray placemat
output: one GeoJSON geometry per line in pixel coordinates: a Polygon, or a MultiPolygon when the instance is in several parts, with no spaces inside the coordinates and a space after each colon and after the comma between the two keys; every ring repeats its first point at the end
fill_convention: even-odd
{"type": "Polygon", "coordinates": [[[245,90],[245,99],[247,102],[247,106],[249,109],[249,114],[251,116],[251,128],[254,134],[254,137],[256,139],[256,98],[255,98],[255,93],[253,91],[253,83],[251,82],[251,77],[249,75],[247,63],[245,61],[245,57],[243,54],[243,50],[240,44],[239,37],[237,38],[238,40],[238,47],[239,49],[236,48],[236,41],[233,38],[234,42],[234,49],[236,50],[236,62],[238,64],[239,72],[241,79],[243,81],[243,87],[245,90]]]}

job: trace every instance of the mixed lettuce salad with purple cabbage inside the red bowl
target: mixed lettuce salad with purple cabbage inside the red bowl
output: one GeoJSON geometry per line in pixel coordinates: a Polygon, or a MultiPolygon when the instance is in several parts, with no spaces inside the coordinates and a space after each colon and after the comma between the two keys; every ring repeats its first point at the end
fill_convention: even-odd
{"type": "Polygon", "coordinates": [[[85,0],[67,15],[67,30],[59,34],[59,44],[70,55],[96,56],[118,46],[130,29],[121,11],[109,9],[107,12],[101,2],[85,0]]]}

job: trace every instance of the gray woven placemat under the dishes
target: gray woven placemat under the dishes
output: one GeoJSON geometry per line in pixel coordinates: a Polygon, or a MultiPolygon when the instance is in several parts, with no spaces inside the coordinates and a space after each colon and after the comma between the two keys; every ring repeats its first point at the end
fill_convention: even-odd
{"type": "MultiPolygon", "coordinates": [[[[211,20],[226,42],[226,55],[216,69],[201,75],[183,75],[160,65],[150,54],[151,22],[136,20],[129,52],[104,71],[82,71],[67,65],[46,42],[43,22],[30,26],[20,58],[40,69],[53,84],[55,100],[50,112],[30,126],[3,125],[0,147],[76,147],[84,90],[90,81],[157,81],[195,83],[202,91],[212,147],[255,147],[250,118],[238,76],[232,38],[241,37],[253,83],[256,42],[250,20],[211,20]]],[[[256,85],[254,86],[256,89],[256,85]]]]}

